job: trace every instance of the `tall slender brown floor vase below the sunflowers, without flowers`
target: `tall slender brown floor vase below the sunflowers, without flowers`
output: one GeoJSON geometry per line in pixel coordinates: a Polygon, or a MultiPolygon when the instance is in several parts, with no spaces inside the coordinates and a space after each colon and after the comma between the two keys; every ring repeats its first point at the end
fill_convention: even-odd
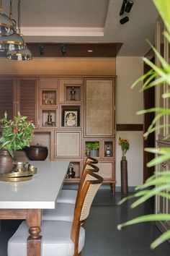
{"type": "Polygon", "coordinates": [[[128,193],[128,162],[125,156],[122,156],[120,161],[120,171],[121,171],[121,192],[122,194],[128,193]]]}

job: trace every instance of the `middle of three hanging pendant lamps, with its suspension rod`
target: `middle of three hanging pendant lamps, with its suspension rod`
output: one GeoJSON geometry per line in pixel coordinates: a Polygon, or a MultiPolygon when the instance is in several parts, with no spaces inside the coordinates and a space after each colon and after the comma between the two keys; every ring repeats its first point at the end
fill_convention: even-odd
{"type": "MultiPolygon", "coordinates": [[[[12,3],[12,0],[10,0],[10,3],[12,3]]],[[[20,4],[21,3],[19,1],[18,6],[20,4]]],[[[22,36],[20,35],[20,11],[18,12],[18,24],[18,33],[0,37],[1,51],[20,51],[27,47],[22,36]]]]}

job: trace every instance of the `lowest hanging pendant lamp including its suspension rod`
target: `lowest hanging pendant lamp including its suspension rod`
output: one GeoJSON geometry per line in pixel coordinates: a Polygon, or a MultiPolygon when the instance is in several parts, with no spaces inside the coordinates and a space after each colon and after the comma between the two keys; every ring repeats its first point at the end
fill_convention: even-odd
{"type": "MultiPolygon", "coordinates": [[[[18,32],[19,35],[21,35],[21,0],[18,1],[18,32]]],[[[32,54],[27,46],[24,49],[19,49],[19,51],[8,51],[6,58],[15,61],[30,61],[33,59],[32,54]]]]}

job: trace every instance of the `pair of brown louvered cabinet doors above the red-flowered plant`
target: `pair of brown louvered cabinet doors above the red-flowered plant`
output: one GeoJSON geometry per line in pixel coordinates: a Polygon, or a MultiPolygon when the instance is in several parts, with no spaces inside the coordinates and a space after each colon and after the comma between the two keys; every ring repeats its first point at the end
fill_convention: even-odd
{"type": "Polygon", "coordinates": [[[0,77],[0,118],[13,119],[19,111],[37,126],[37,78],[0,77]]]}

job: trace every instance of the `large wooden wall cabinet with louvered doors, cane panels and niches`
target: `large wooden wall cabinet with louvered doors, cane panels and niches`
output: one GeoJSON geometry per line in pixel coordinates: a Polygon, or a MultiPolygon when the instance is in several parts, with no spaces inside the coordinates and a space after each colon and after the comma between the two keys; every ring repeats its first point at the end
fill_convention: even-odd
{"type": "Polygon", "coordinates": [[[34,121],[32,145],[48,146],[48,160],[71,161],[76,174],[66,182],[79,182],[87,146],[98,143],[100,174],[115,191],[115,77],[2,76],[0,117],[4,111],[34,121]]]}

